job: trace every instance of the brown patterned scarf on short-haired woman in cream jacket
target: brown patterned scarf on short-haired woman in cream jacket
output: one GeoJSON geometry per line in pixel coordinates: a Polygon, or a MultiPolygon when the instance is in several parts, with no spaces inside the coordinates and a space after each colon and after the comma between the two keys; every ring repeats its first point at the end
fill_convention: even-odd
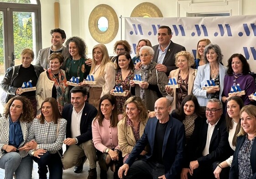
{"type": "Polygon", "coordinates": [[[58,72],[58,78],[55,77],[55,75],[52,73],[52,70],[48,68],[47,70],[47,76],[50,80],[54,81],[54,86],[57,90],[57,104],[59,112],[62,113],[63,107],[65,104],[69,102],[69,90],[68,85],[66,84],[67,79],[62,72],[62,70],[59,70],[58,72]]]}

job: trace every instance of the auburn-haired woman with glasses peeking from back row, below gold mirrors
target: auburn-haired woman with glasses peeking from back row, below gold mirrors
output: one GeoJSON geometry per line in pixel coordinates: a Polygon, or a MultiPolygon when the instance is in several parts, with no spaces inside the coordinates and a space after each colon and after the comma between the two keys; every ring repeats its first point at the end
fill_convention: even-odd
{"type": "MultiPolygon", "coordinates": [[[[120,52],[127,51],[131,53],[131,46],[128,41],[116,41],[114,45],[114,54],[118,55],[120,52]]],[[[110,56],[110,60],[115,63],[117,56],[110,56]]]]}

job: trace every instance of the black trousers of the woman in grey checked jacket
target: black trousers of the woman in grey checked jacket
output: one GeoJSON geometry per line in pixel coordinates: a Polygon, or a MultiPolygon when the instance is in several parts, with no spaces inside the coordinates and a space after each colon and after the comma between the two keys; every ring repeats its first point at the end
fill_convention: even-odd
{"type": "Polygon", "coordinates": [[[47,179],[47,166],[49,169],[49,179],[62,179],[63,166],[58,153],[46,152],[40,156],[32,157],[32,159],[38,164],[39,179],[47,179]]]}

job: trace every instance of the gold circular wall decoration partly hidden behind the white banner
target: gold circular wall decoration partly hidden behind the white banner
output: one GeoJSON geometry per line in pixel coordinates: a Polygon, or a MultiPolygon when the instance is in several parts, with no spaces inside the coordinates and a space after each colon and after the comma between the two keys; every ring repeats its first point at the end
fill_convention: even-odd
{"type": "Polygon", "coordinates": [[[156,5],[143,2],[137,5],[131,12],[131,17],[163,17],[156,5]]]}

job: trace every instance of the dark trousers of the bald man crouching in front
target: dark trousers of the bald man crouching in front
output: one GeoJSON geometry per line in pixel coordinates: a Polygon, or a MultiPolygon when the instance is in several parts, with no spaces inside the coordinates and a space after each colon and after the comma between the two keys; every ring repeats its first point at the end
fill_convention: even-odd
{"type": "Polygon", "coordinates": [[[123,179],[158,179],[165,174],[164,165],[146,159],[136,160],[123,179]]]}

